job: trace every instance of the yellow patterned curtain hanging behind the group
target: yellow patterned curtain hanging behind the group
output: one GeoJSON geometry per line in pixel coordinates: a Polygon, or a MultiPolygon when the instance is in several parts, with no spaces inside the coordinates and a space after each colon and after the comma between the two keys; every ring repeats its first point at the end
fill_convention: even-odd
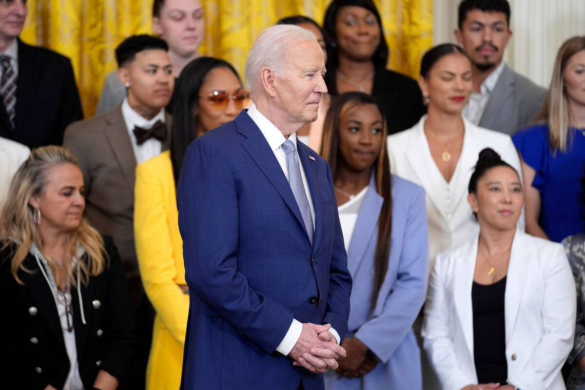
{"type": "MultiPolygon", "coordinates": [[[[232,63],[243,78],[256,36],[278,19],[307,15],[322,23],[331,0],[201,0],[201,53],[232,63]]],[[[432,45],[432,0],[374,0],[390,47],[388,68],[417,77],[432,45]]],[[[116,68],[115,47],[127,36],[152,33],[152,0],[29,0],[22,40],[71,58],[85,116],[95,112],[105,76],[116,68]]]]}

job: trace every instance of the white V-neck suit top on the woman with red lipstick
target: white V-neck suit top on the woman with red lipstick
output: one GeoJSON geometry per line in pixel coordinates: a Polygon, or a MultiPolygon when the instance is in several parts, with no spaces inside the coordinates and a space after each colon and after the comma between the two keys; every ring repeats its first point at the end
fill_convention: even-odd
{"type": "MultiPolygon", "coordinates": [[[[459,246],[479,234],[479,225],[467,202],[469,179],[479,152],[491,147],[519,175],[522,172],[518,152],[508,134],[477,127],[463,118],[465,133],[461,156],[451,181],[446,182],[431,156],[424,132],[425,121],[426,115],[411,129],[388,136],[388,157],[393,174],[425,189],[430,270],[439,252],[459,246]]],[[[524,230],[524,212],[518,226],[524,230]]]]}

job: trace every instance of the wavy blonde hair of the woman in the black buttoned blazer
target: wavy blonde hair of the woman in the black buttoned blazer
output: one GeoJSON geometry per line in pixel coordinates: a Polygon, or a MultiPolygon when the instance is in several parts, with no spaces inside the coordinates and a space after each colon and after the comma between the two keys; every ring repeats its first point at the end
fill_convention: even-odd
{"type": "MultiPolygon", "coordinates": [[[[19,284],[24,282],[18,277],[18,271],[31,272],[23,265],[29,253],[32,243],[36,243],[39,250],[43,248],[43,237],[33,220],[33,208],[29,205],[32,196],[43,195],[47,184],[47,172],[50,168],[62,164],[73,164],[79,167],[77,158],[60,146],[39,147],[30,153],[29,158],[20,165],[12,178],[8,190],[8,198],[0,213],[0,241],[2,249],[15,244],[12,253],[12,276],[19,284]]],[[[79,258],[82,283],[87,285],[90,276],[101,274],[105,268],[104,240],[102,236],[85,220],[81,219],[80,225],[68,234],[66,244],[66,256],[77,257],[78,244],[85,249],[87,256],[79,258]]],[[[58,286],[64,282],[76,285],[73,274],[74,267],[68,267],[67,277],[56,272],[58,260],[46,256],[47,264],[53,271],[55,282],[58,286]],[[63,280],[66,278],[66,280],[63,280]]]]}

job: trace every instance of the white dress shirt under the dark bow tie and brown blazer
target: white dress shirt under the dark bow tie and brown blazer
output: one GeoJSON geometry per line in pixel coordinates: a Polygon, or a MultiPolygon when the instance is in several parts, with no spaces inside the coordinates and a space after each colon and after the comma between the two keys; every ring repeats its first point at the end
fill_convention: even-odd
{"type": "Polygon", "coordinates": [[[165,123],[164,120],[164,108],[160,109],[160,112],[150,120],[147,120],[142,115],[134,111],[128,104],[128,98],[124,98],[122,102],[122,116],[128,129],[130,141],[132,141],[132,149],[134,150],[134,156],[136,157],[136,164],[143,163],[146,160],[150,160],[154,156],[159,156],[162,150],[162,144],[156,138],[150,138],[146,140],[142,145],[139,145],[136,136],[134,135],[134,127],[142,127],[143,129],[150,129],[157,120],[165,123]]]}

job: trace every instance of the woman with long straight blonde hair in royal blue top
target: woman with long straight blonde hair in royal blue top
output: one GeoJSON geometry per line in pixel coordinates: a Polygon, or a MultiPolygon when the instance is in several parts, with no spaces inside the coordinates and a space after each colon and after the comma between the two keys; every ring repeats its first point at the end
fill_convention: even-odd
{"type": "Polygon", "coordinates": [[[585,36],[556,56],[545,103],[514,145],[522,156],[526,233],[560,242],[581,232],[580,167],[585,162],[585,36]]]}

